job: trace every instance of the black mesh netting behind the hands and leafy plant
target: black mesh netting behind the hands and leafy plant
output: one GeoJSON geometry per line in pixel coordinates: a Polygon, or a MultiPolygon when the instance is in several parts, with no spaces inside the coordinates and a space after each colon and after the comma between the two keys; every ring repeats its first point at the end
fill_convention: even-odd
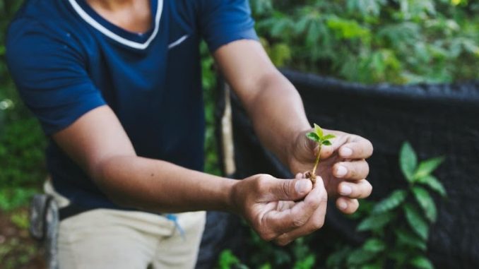
{"type": "MultiPolygon", "coordinates": [[[[403,141],[410,141],[420,160],[446,156],[434,174],[444,183],[449,197],[437,198],[439,217],[431,230],[429,255],[437,268],[479,268],[479,82],[360,85],[296,71],[283,73],[300,92],[310,122],[372,141],[372,200],[404,184],[398,167],[403,141]]],[[[218,100],[218,111],[222,111],[223,98],[218,100]]],[[[259,145],[235,96],[232,112],[235,177],[258,173],[291,177],[288,169],[259,145]]],[[[360,242],[362,237],[354,232],[354,224],[332,208],[329,206],[326,226],[321,230],[328,232],[317,232],[319,240],[323,237],[321,242],[332,244],[334,234],[353,244],[360,242]]]]}

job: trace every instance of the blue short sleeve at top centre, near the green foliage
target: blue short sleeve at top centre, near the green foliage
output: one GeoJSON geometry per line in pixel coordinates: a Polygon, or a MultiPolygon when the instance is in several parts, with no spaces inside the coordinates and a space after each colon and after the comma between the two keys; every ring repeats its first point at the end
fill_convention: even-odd
{"type": "Polygon", "coordinates": [[[199,0],[201,34],[211,52],[235,40],[258,40],[248,0],[199,0]]]}

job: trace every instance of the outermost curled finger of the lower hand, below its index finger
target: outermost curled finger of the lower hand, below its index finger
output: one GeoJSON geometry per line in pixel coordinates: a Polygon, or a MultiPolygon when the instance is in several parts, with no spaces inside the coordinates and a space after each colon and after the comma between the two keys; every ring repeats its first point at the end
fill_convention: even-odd
{"type": "MultiPolygon", "coordinates": [[[[291,241],[297,239],[298,237],[302,237],[304,235],[310,234],[311,232],[320,229],[324,225],[324,217],[326,215],[326,207],[328,205],[328,195],[326,190],[324,189],[324,185],[322,180],[317,181],[317,184],[314,184],[314,189],[318,189],[320,191],[320,203],[317,210],[314,211],[313,215],[307,220],[302,227],[298,227],[297,229],[292,229],[290,232],[286,232],[285,234],[281,234],[278,238],[274,241],[276,244],[280,246],[285,246],[289,244],[291,241]]],[[[306,198],[307,199],[307,198],[306,198]]],[[[304,199],[306,201],[306,199],[304,199]]]]}

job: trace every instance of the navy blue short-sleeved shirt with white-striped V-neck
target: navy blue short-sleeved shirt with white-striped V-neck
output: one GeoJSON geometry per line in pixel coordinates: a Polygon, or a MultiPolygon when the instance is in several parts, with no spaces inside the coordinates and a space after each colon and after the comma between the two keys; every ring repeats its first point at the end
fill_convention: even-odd
{"type": "MultiPolygon", "coordinates": [[[[257,39],[247,0],[151,0],[148,32],[113,25],[85,0],[28,0],[10,25],[7,61],[47,136],[109,105],[142,157],[203,169],[199,42],[257,39]]],[[[50,141],[54,187],[87,208],[117,208],[50,141]]],[[[161,191],[161,190],[158,190],[161,191]]]]}

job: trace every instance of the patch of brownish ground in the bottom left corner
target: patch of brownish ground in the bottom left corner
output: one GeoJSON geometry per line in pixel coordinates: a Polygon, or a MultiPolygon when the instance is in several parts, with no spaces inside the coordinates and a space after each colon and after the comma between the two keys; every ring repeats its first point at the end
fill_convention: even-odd
{"type": "Polygon", "coordinates": [[[0,211],[0,268],[44,269],[43,251],[28,234],[28,208],[0,211]]]}

